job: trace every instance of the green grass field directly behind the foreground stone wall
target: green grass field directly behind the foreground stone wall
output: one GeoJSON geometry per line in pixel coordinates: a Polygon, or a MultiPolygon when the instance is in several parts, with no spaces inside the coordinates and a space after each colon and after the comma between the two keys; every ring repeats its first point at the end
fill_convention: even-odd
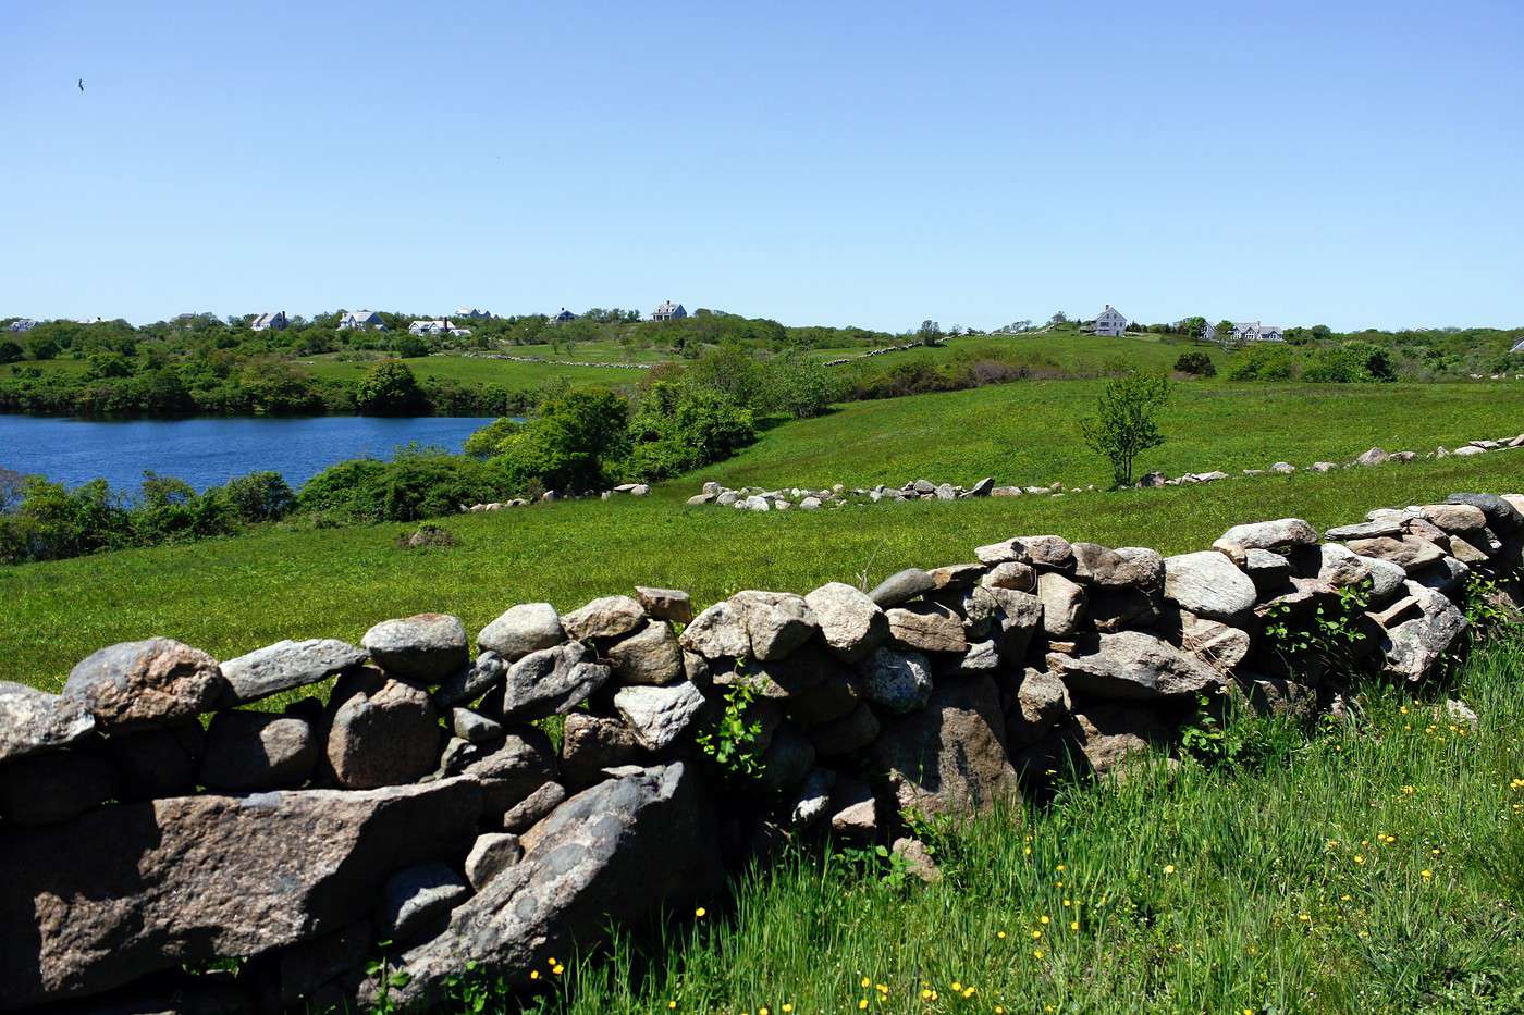
{"type": "Polygon", "coordinates": [[[561,610],[634,585],[700,604],[741,588],[873,584],[908,565],[966,561],[975,546],[1056,532],[1166,553],[1241,521],[1306,517],[1318,527],[1457,489],[1524,489],[1524,451],[1407,466],[1059,498],[917,501],[753,514],[684,507],[677,480],[643,500],[562,501],[443,520],[460,546],[401,550],[413,526],[270,527],[251,535],[0,568],[8,605],[0,680],[56,689],[102,645],[155,634],[218,658],[283,637],[358,640],[387,617],[436,610],[471,631],[518,602],[561,610]]]}

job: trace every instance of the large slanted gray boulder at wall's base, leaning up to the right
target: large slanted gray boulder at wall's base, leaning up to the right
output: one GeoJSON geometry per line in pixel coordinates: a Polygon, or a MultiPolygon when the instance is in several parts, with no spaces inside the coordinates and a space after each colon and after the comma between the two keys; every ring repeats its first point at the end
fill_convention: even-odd
{"type": "MultiPolygon", "coordinates": [[[[696,779],[681,764],[587,789],[523,838],[524,858],[451,913],[448,928],[395,966],[389,992],[404,1009],[439,1004],[466,963],[526,986],[530,969],[570,956],[605,928],[718,889],[715,826],[696,779]]],[[[361,1003],[378,1000],[376,983],[361,1003]]]]}

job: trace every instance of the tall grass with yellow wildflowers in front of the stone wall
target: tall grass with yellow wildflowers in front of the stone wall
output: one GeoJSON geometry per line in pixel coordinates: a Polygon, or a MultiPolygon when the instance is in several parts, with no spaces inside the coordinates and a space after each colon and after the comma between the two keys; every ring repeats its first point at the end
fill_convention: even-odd
{"type": "MultiPolygon", "coordinates": [[[[1448,693],[1312,728],[1241,716],[1164,759],[934,835],[942,881],[796,852],[703,917],[623,934],[555,1012],[1524,1010],[1524,637],[1448,693]]],[[[495,1004],[497,1001],[494,1001],[495,1004]]]]}

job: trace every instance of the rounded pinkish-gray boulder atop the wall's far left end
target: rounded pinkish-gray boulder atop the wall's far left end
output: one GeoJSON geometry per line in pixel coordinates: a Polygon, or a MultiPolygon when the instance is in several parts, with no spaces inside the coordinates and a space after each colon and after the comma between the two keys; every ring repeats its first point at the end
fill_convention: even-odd
{"type": "Polygon", "coordinates": [[[122,642],[84,658],[64,696],[94,716],[104,733],[174,725],[210,712],[227,681],[216,660],[174,639],[122,642]]]}

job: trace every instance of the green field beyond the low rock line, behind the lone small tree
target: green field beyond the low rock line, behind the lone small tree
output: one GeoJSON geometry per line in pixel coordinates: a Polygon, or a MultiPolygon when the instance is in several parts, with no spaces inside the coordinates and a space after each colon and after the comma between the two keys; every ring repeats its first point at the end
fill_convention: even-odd
{"type": "MultiPolygon", "coordinates": [[[[1108,340],[1122,341],[1122,340],[1108,340]]],[[[1018,381],[971,392],[852,402],[821,419],[770,430],[751,448],[703,469],[728,486],[971,485],[981,475],[1042,486],[1109,485],[1079,421],[1102,381],[1018,381]]],[[[1524,386],[1486,384],[1177,384],[1161,427],[1167,443],[1138,474],[1169,475],[1350,460],[1372,445],[1433,451],[1524,430],[1524,386]]]]}

